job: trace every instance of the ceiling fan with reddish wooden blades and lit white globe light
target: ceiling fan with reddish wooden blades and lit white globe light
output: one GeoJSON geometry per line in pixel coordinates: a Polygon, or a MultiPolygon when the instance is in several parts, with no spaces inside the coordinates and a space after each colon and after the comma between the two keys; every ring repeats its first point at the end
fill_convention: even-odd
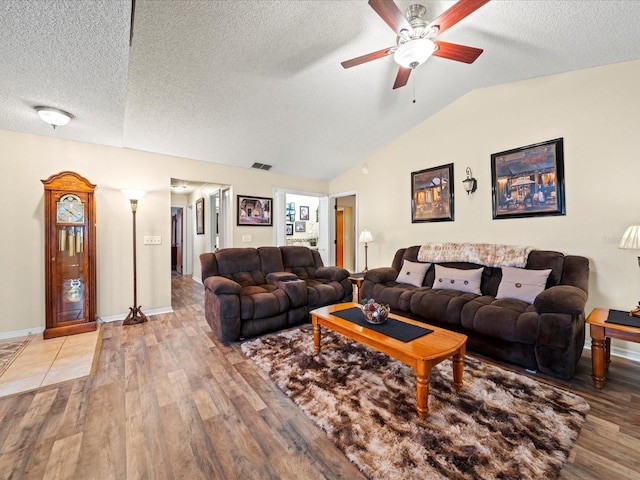
{"type": "Polygon", "coordinates": [[[430,23],[424,19],[426,8],[414,4],[407,8],[406,16],[392,0],[369,0],[369,5],[396,33],[396,46],[368,53],[341,63],[344,68],[355,67],[393,54],[400,69],[393,88],[404,87],[411,70],[422,65],[431,55],[458,62],[473,63],[482,53],[481,48],[434,40],[445,30],[475,12],[489,0],[460,0],[430,23]]]}

